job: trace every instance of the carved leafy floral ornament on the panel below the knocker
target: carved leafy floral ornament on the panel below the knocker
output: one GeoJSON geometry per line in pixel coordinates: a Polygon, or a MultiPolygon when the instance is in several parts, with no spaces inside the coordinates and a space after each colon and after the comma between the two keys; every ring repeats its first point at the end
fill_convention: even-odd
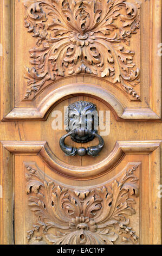
{"type": "Polygon", "coordinates": [[[60,187],[40,169],[25,168],[29,206],[37,216],[34,228],[27,232],[31,243],[138,243],[127,218],[135,214],[133,197],[138,197],[139,187],[134,172],[138,165],[124,170],[119,181],[85,191],[60,187]]]}

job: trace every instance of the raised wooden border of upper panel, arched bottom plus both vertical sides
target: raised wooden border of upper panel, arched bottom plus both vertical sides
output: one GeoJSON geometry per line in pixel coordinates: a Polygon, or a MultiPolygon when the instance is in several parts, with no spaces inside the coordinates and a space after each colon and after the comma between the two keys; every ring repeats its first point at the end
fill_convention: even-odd
{"type": "MultiPolygon", "coordinates": [[[[113,96],[114,99],[111,101],[108,99],[108,104],[112,106],[115,111],[116,117],[119,121],[122,120],[139,120],[139,121],[161,121],[161,100],[157,102],[154,99],[157,99],[159,95],[161,95],[161,57],[158,56],[157,52],[159,50],[158,44],[161,42],[161,3],[162,0],[152,0],[151,4],[151,23],[152,28],[151,31],[151,43],[150,43],[150,107],[149,108],[134,108],[134,107],[125,107],[122,106],[118,99],[105,91],[107,95],[109,94],[109,99],[113,96]],[[114,100],[118,101],[118,105],[121,106],[122,112],[116,111],[114,108],[113,102],[114,100]],[[112,104],[112,105],[111,105],[112,104]]],[[[1,57],[1,83],[2,83],[2,103],[1,103],[1,119],[2,121],[11,121],[11,120],[46,120],[47,113],[51,104],[59,100],[59,96],[57,98],[53,96],[51,99],[51,93],[47,95],[38,106],[35,108],[15,108],[14,107],[14,72],[13,72],[13,63],[14,63],[14,33],[13,33],[13,24],[14,17],[12,14],[14,13],[14,1],[11,0],[3,0],[1,1],[1,38],[2,38],[2,46],[3,46],[3,56],[1,57]],[[9,19],[11,17],[11,19],[9,19]],[[3,21],[3,22],[2,22],[3,21]],[[54,100],[55,98],[55,100],[54,100]],[[50,102],[47,106],[47,101],[50,102]],[[46,100],[46,102],[45,102],[46,100]],[[43,106],[43,104],[45,104],[43,106]]],[[[83,84],[84,85],[84,84],[83,84]]],[[[69,85],[74,86],[73,94],[80,94],[80,88],[76,88],[76,84],[69,85]]],[[[88,84],[86,85],[87,89],[90,88],[88,84]]],[[[84,86],[84,88],[86,89],[84,86]]],[[[96,88],[98,86],[95,85],[96,88]]],[[[62,92],[65,88],[60,88],[60,92],[62,92]]],[[[67,90],[66,90],[67,91],[67,90]]],[[[100,94],[102,94],[104,90],[101,89],[100,94]]],[[[53,91],[53,94],[57,94],[57,89],[53,91]]],[[[97,90],[98,92],[98,90],[97,90]]],[[[67,96],[70,96],[72,90],[69,94],[66,92],[67,96]]],[[[83,92],[82,92],[83,93],[83,92]]],[[[83,93],[84,94],[84,93],[83,93]]],[[[93,90],[89,91],[88,95],[99,97],[98,93],[93,92],[93,90]]],[[[102,100],[102,98],[101,98],[102,100]]]]}

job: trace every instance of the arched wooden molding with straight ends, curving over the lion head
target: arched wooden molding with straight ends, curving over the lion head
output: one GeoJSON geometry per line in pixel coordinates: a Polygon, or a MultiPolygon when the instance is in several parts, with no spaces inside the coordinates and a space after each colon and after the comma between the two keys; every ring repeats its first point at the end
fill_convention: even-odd
{"type": "Polygon", "coordinates": [[[118,99],[116,99],[107,90],[96,86],[95,84],[88,83],[73,83],[62,86],[49,93],[39,103],[37,108],[14,108],[5,116],[3,121],[9,120],[46,120],[48,117],[49,109],[56,105],[57,102],[74,95],[89,95],[95,99],[99,99],[108,105],[116,119],[118,120],[158,120],[159,117],[150,108],[125,108],[118,99]]]}

